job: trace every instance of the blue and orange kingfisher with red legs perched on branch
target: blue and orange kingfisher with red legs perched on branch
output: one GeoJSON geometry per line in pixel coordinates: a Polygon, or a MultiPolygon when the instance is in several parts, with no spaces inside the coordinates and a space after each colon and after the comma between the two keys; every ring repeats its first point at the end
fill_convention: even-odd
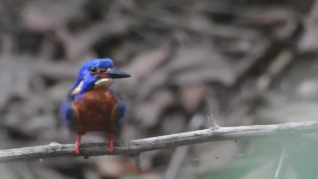
{"type": "Polygon", "coordinates": [[[77,132],[75,153],[79,155],[80,139],[86,132],[103,131],[108,136],[108,152],[113,152],[113,135],[118,135],[124,122],[125,104],[110,89],[115,79],[130,74],[115,70],[111,59],[87,61],[61,104],[60,113],[72,131],[77,132]]]}

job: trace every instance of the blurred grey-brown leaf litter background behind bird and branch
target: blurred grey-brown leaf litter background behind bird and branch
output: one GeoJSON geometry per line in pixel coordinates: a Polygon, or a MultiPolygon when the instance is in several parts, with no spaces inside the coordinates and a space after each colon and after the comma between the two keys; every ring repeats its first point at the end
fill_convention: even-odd
{"type": "MultiPolygon", "coordinates": [[[[318,1],[0,0],[0,149],[74,143],[58,108],[81,65],[111,58],[121,140],[318,117],[318,1]]],[[[82,142],[105,142],[90,133],[82,142]]],[[[0,164],[1,179],[316,179],[316,135],[0,164]],[[284,151],[284,152],[283,152],[284,151]],[[282,155],[285,153],[285,155],[282,155]]]]}

